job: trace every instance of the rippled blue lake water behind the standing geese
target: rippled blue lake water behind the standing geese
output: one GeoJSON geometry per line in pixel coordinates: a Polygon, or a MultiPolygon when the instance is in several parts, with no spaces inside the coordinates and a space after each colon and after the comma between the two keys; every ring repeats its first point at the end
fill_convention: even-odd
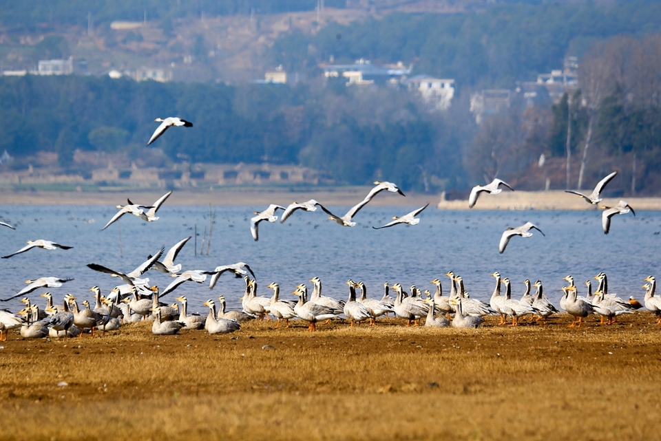
{"type": "MultiPolygon", "coordinates": [[[[0,252],[14,252],[29,239],[48,239],[74,246],[71,250],[32,249],[10,259],[0,260],[2,281],[0,297],[6,298],[21,290],[26,279],[37,277],[74,277],[61,288],[51,288],[56,303],[71,292],[79,299],[92,299],[90,287],[98,285],[105,294],[119,281],[90,270],[87,263],[99,263],[115,270],[129,272],[161,246],[166,250],[177,241],[193,235],[198,227],[198,255],[193,252],[193,239],[183,248],[177,262],[182,268],[212,270],[218,265],[244,261],[251,266],[259,282],[259,292],[271,295],[266,285],[280,283],[281,296],[289,296],[299,283],[308,283],[318,276],[324,294],[344,298],[346,280],[362,280],[370,297],[381,297],[383,282],[415,283],[422,290],[434,288],[430,281],[439,278],[448,292],[449,270],[461,275],[471,297],[488,299],[494,288],[490,274],[501,272],[512,280],[513,296],[523,294],[523,280],[541,279],[545,293],[558,303],[563,277],[574,275],[579,293],[583,281],[600,271],[609,276],[609,292],[644,294],[642,279],[657,275],[661,255],[661,213],[637,212],[633,217],[613,217],[611,233],[601,229],[599,211],[440,211],[428,208],[417,226],[395,226],[373,230],[390,221],[393,215],[411,211],[408,207],[370,208],[366,206],[355,217],[353,228],[339,226],[326,219],[324,213],[297,211],[285,224],[260,224],[260,241],[253,241],[249,218],[264,206],[215,206],[211,250],[200,255],[204,226],[208,225],[208,206],[168,206],[158,211],[158,222],[143,222],[125,215],[120,225],[101,228],[116,209],[107,206],[3,206],[0,218],[17,230],[0,228],[0,252]],[[94,223],[89,223],[94,219],[94,223]],[[87,221],[87,222],[85,222],[87,221]],[[533,230],[533,237],[514,237],[503,255],[498,244],[507,226],[533,222],[546,237],[533,230]],[[122,239],[120,255],[119,235],[122,239]]],[[[329,207],[334,213],[345,213],[348,207],[329,207]]],[[[173,279],[161,272],[145,275],[161,290],[173,279]]],[[[311,287],[311,283],[308,283],[311,287]]],[[[202,303],[223,294],[231,309],[240,309],[238,298],[244,290],[242,279],[225,273],[216,288],[208,283],[187,282],[163,299],[174,302],[184,294],[192,311],[204,312],[202,303]]],[[[43,304],[37,290],[30,294],[33,301],[43,304]]],[[[0,303],[0,308],[20,309],[18,299],[0,303]]]]}

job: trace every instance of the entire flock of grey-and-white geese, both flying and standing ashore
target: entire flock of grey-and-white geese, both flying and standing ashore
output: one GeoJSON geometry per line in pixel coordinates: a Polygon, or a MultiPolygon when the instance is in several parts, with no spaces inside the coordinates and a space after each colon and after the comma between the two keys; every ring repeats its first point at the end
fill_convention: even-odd
{"type": "MultiPolygon", "coordinates": [[[[180,118],[157,118],[157,122],[161,122],[159,127],[154,131],[154,134],[149,139],[147,145],[154,142],[159,138],[169,127],[192,127],[192,123],[180,118]]],[[[590,204],[598,204],[601,202],[600,194],[605,186],[616,175],[617,171],[609,174],[606,178],[601,180],[594,191],[590,195],[584,195],[576,191],[568,191],[580,195],[585,198],[590,204]]],[[[494,179],[493,182],[485,186],[475,186],[470,192],[468,200],[469,208],[473,208],[479,199],[481,193],[490,193],[497,195],[501,193],[501,186],[514,191],[512,187],[503,180],[494,179]]],[[[353,218],[357,213],[366,206],[375,195],[381,191],[389,191],[391,193],[399,193],[405,196],[404,193],[391,182],[375,182],[375,187],[364,197],[361,202],[350,208],[350,210],[343,216],[338,216],[331,213],[326,207],[317,202],[316,200],[309,200],[302,204],[294,202],[287,207],[271,204],[266,210],[262,212],[255,212],[255,216],[250,220],[251,235],[255,241],[259,239],[258,227],[260,222],[276,222],[277,210],[282,210],[282,217],[280,222],[285,222],[295,211],[302,210],[313,212],[317,207],[322,208],[329,219],[334,220],[337,224],[346,227],[353,227],[356,225],[353,218]]],[[[130,213],[136,217],[140,217],[145,222],[155,222],[159,218],[156,213],[160,206],[172,194],[169,191],[162,195],[154,204],[141,205],[134,204],[131,200],[127,200],[126,205],[118,205],[118,212],[105,224],[102,230],[116,222],[123,215],[130,213]]],[[[429,204],[417,210],[412,211],[401,217],[393,217],[392,222],[375,229],[389,228],[398,224],[417,225],[420,219],[416,216],[419,215],[429,204]]],[[[604,233],[609,232],[611,217],[616,214],[625,214],[633,211],[626,202],[620,203],[613,207],[603,206],[602,212],[602,227],[604,233]]],[[[0,222],[1,226],[8,228],[15,228],[9,224],[0,222]]],[[[505,251],[510,239],[515,235],[521,237],[530,237],[531,229],[544,233],[534,224],[527,222],[523,226],[516,228],[507,228],[501,236],[499,244],[499,251],[505,251]]],[[[7,310],[0,310],[0,340],[6,340],[7,330],[20,327],[20,334],[23,338],[43,338],[45,336],[82,336],[85,330],[90,330],[94,336],[95,328],[101,328],[103,332],[107,330],[116,330],[123,323],[136,323],[143,320],[153,320],[152,332],[154,334],[176,334],[181,329],[199,330],[205,329],[210,334],[221,334],[227,332],[234,332],[240,329],[242,321],[250,319],[269,319],[269,315],[277,319],[278,327],[280,321],[284,321],[288,327],[288,322],[291,319],[301,319],[309,323],[308,329],[315,330],[316,323],[319,321],[330,321],[336,319],[338,316],[344,314],[346,320],[350,322],[353,327],[355,323],[363,323],[369,321],[371,325],[375,325],[377,318],[381,316],[388,316],[392,313],[395,316],[406,319],[408,325],[417,325],[419,320],[423,317],[426,318],[425,325],[432,327],[478,327],[484,322],[484,316],[499,314],[501,316],[501,324],[505,324],[505,318],[512,319],[511,325],[518,325],[522,317],[530,316],[535,317],[536,321],[546,319],[552,314],[556,314],[558,310],[552,305],[543,294],[543,287],[541,281],[536,281],[534,286],[536,293],[531,295],[531,283],[526,280],[526,290],[523,297],[518,299],[511,298],[510,279],[501,279],[498,272],[492,274],[496,278],[496,288],[492,294],[490,303],[485,303],[477,299],[470,298],[470,294],[465,291],[463,279],[460,276],[454,275],[453,272],[448,272],[446,276],[450,277],[451,290],[448,296],[443,296],[441,281],[434,279],[430,283],[434,284],[437,289],[434,294],[430,294],[428,290],[420,292],[415,285],[410,287],[410,293],[406,292],[401,284],[395,283],[392,286],[388,282],[384,283],[384,295],[381,299],[370,299],[367,297],[367,288],[365,283],[359,281],[348,280],[348,299],[339,300],[333,299],[322,294],[322,282],[318,277],[311,279],[314,285],[313,292],[308,299],[308,292],[305,284],[297,286],[296,290],[292,293],[298,297],[297,301],[280,299],[280,287],[277,283],[269,284],[268,288],[273,290],[271,297],[263,297],[257,295],[257,281],[253,270],[244,262],[233,263],[231,265],[218,266],[214,270],[186,270],[181,271],[181,264],[174,263],[180,250],[185,246],[191,237],[182,239],[177,244],[172,246],[167,253],[165,247],[160,248],[154,255],[140,264],[131,272],[121,272],[107,268],[106,266],[98,263],[90,263],[87,266],[98,272],[104,272],[112,277],[118,277],[124,283],[123,285],[116,286],[107,296],[101,295],[101,289],[94,286],[90,292],[94,292],[94,308],[91,307],[90,302],[85,300],[81,304],[85,308],[81,309],[78,306],[77,299],[72,294],[66,294],[61,305],[54,305],[52,294],[45,292],[41,297],[47,299],[47,304],[43,310],[32,303],[28,297],[21,299],[25,303],[25,308],[17,314],[12,314],[7,310]],[[165,256],[164,256],[165,253],[165,256]],[[162,259],[161,259],[162,258],[162,259]],[[143,277],[149,270],[157,270],[165,272],[174,278],[165,290],[158,290],[156,286],[149,286],[149,279],[143,277]],[[209,288],[213,288],[220,275],[224,272],[231,272],[235,277],[243,277],[246,283],[244,296],[242,297],[242,311],[227,311],[225,309],[224,297],[220,296],[219,309],[216,310],[216,303],[209,299],[204,302],[204,306],[209,308],[209,314],[206,318],[196,315],[188,314],[187,299],[185,297],[178,297],[177,304],[167,305],[160,300],[167,294],[170,294],[178,286],[186,281],[195,281],[203,283],[211,276],[209,288]],[[505,294],[501,294],[501,284],[505,286],[505,294]],[[395,298],[390,297],[390,289],[395,292],[395,298]],[[360,290],[360,295],[357,296],[357,290],[360,290]],[[452,318],[454,314],[454,318],[452,318]],[[24,316],[25,319],[21,319],[24,316]]],[[[22,252],[27,252],[32,248],[43,248],[45,250],[54,250],[61,248],[68,250],[71,246],[57,244],[53,241],[38,239],[35,241],[28,241],[28,245],[20,250],[13,252],[10,255],[3,256],[3,259],[8,259],[14,255],[22,252]]],[[[603,319],[607,319],[607,324],[611,324],[613,319],[620,314],[631,314],[642,305],[633,298],[625,301],[617,297],[616,294],[608,292],[607,277],[602,272],[597,275],[599,286],[592,294],[591,284],[586,282],[588,292],[585,297],[578,297],[577,288],[574,285],[574,279],[571,276],[565,277],[569,282],[569,286],[563,288],[563,298],[560,301],[560,307],[567,313],[574,316],[574,323],[570,326],[578,326],[582,323],[583,318],[589,314],[598,314],[603,319]]],[[[0,299],[0,301],[8,301],[16,297],[26,296],[30,292],[39,288],[58,288],[63,283],[72,279],[61,279],[56,277],[41,277],[36,280],[28,280],[28,284],[23,290],[7,299],[0,299]]],[[[644,288],[647,289],[644,299],[644,305],[648,310],[659,316],[658,323],[661,323],[661,299],[655,297],[656,282],[653,277],[645,279],[647,282],[644,288]]]]}

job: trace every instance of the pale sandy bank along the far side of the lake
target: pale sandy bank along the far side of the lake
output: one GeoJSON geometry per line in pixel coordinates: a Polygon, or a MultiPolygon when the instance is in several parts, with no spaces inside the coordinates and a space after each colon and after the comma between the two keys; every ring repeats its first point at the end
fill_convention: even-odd
{"type": "MultiPolygon", "coordinates": [[[[291,204],[315,199],[324,205],[353,206],[370,191],[369,186],[300,189],[290,191],[278,188],[227,188],[205,191],[175,190],[168,200],[173,205],[268,205],[291,204]]],[[[4,191],[0,204],[17,205],[116,205],[129,197],[134,202],[147,204],[158,199],[164,190],[127,189],[126,191],[4,191]]],[[[636,210],[661,210],[661,197],[606,198],[602,204],[612,206],[625,199],[636,210]]],[[[406,197],[382,193],[372,206],[410,206],[427,203],[441,210],[468,210],[468,200],[443,200],[442,194],[408,192],[406,197]]],[[[503,191],[499,195],[483,194],[473,210],[596,210],[578,196],[564,191],[503,191]]]]}

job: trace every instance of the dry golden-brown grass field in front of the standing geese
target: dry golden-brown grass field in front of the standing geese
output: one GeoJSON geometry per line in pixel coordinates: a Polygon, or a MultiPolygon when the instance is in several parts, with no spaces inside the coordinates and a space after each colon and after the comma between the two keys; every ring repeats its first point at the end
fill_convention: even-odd
{"type": "Polygon", "coordinates": [[[22,341],[0,349],[3,440],[625,440],[661,429],[661,329],[647,312],[479,330],[306,331],[22,341]],[[270,345],[273,348],[264,347],[270,345]],[[65,382],[67,385],[58,386],[65,382]]]}

